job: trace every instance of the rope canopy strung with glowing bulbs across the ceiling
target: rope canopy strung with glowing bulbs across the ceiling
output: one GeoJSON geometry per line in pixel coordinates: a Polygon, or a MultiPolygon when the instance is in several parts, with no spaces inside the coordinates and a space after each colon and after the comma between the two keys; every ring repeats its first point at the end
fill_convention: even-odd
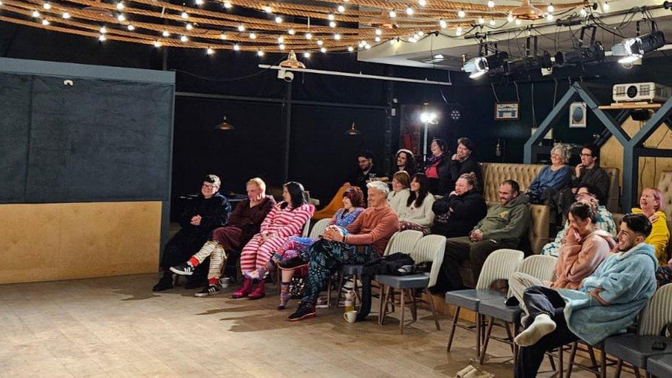
{"type": "MultiPolygon", "coordinates": [[[[416,42],[486,20],[512,22],[518,6],[445,0],[0,0],[0,21],[157,48],[257,52],[343,52],[385,41],[416,42]],[[315,5],[319,4],[319,5],[315,5]]],[[[547,9],[549,3],[534,4],[547,9]]],[[[570,10],[585,1],[554,3],[570,10]]],[[[458,32],[459,33],[459,32],[458,32]]]]}

